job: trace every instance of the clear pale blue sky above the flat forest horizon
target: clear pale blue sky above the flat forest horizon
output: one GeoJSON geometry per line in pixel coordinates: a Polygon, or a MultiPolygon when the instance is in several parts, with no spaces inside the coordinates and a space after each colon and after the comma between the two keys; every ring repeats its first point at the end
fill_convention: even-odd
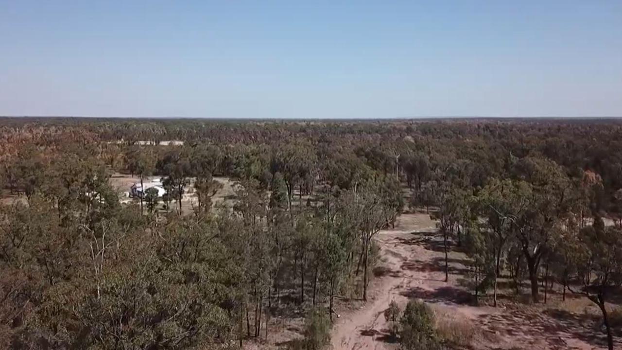
{"type": "Polygon", "coordinates": [[[0,0],[0,115],[622,116],[622,1],[0,0]]]}

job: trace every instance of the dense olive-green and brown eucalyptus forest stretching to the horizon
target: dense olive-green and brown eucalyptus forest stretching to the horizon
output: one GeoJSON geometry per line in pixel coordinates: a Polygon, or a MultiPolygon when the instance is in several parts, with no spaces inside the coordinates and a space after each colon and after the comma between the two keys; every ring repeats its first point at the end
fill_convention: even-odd
{"type": "MultiPolygon", "coordinates": [[[[465,253],[473,303],[497,306],[502,275],[524,303],[557,283],[613,349],[621,150],[615,119],[0,118],[0,349],[238,348],[297,317],[288,346],[323,348],[412,210],[435,220],[445,280],[465,253]],[[125,201],[118,174],[165,194],[125,201]]],[[[404,349],[451,348],[429,313],[384,315],[404,349]]]]}

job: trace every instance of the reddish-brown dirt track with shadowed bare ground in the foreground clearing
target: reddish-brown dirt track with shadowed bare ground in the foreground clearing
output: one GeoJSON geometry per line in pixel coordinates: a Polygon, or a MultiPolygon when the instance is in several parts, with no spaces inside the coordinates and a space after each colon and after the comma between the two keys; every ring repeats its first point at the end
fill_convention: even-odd
{"type": "MultiPolygon", "coordinates": [[[[376,242],[381,262],[374,270],[371,298],[360,310],[342,315],[332,334],[333,349],[395,349],[384,310],[391,300],[401,308],[411,298],[430,303],[439,315],[475,325],[475,349],[604,349],[604,338],[574,315],[552,315],[544,308],[491,308],[468,305],[470,293],[459,285],[463,260],[453,257],[450,280],[444,281],[442,245],[435,224],[425,214],[402,215],[394,230],[376,242]]],[[[618,343],[620,339],[616,339],[618,343]]]]}

